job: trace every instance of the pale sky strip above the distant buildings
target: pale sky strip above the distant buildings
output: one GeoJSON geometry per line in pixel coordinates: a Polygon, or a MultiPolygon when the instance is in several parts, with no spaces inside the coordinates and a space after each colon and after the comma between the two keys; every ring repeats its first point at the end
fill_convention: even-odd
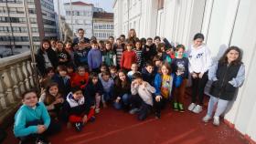
{"type": "MultiPolygon", "coordinates": [[[[112,13],[112,4],[114,0],[71,0],[71,2],[81,1],[84,3],[93,4],[95,7],[101,7],[105,11],[112,13]]],[[[60,13],[64,15],[63,3],[69,3],[70,0],[59,0],[60,3],[60,13]],[[62,3],[62,5],[61,5],[62,3]]],[[[58,13],[58,0],[54,0],[54,10],[58,13]]]]}

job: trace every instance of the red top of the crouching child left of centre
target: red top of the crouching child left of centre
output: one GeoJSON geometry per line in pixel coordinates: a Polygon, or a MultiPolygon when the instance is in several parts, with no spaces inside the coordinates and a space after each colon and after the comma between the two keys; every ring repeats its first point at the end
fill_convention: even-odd
{"type": "Polygon", "coordinates": [[[88,80],[89,80],[88,72],[86,72],[84,76],[80,76],[79,74],[76,73],[74,77],[71,77],[71,87],[80,87],[84,89],[84,87],[88,83],[88,80]]]}

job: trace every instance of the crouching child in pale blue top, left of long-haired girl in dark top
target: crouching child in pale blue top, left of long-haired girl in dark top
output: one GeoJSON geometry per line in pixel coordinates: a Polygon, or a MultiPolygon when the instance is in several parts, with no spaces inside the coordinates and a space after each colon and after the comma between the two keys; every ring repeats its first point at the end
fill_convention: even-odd
{"type": "Polygon", "coordinates": [[[103,107],[107,107],[107,102],[112,101],[112,91],[113,91],[113,80],[111,78],[111,74],[108,71],[102,72],[101,75],[101,84],[103,87],[103,95],[102,95],[102,104],[103,107]]]}

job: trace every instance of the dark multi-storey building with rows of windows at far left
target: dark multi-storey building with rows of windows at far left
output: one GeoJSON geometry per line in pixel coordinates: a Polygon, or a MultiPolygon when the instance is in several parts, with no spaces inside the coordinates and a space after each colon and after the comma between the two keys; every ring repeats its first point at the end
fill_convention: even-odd
{"type": "MultiPolygon", "coordinates": [[[[33,44],[44,37],[57,37],[53,0],[27,0],[33,44]]],[[[29,50],[27,19],[23,0],[0,1],[0,53],[6,57],[29,50]]]]}

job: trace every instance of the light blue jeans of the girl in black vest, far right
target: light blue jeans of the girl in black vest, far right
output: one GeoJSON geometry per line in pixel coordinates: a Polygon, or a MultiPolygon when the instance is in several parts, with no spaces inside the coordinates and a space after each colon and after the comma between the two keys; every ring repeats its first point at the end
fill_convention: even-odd
{"type": "Polygon", "coordinates": [[[209,102],[208,102],[208,116],[210,116],[210,117],[212,116],[214,106],[217,103],[218,103],[218,105],[217,105],[217,109],[215,111],[214,117],[219,117],[226,110],[226,108],[229,104],[229,101],[210,96],[209,102]]]}

